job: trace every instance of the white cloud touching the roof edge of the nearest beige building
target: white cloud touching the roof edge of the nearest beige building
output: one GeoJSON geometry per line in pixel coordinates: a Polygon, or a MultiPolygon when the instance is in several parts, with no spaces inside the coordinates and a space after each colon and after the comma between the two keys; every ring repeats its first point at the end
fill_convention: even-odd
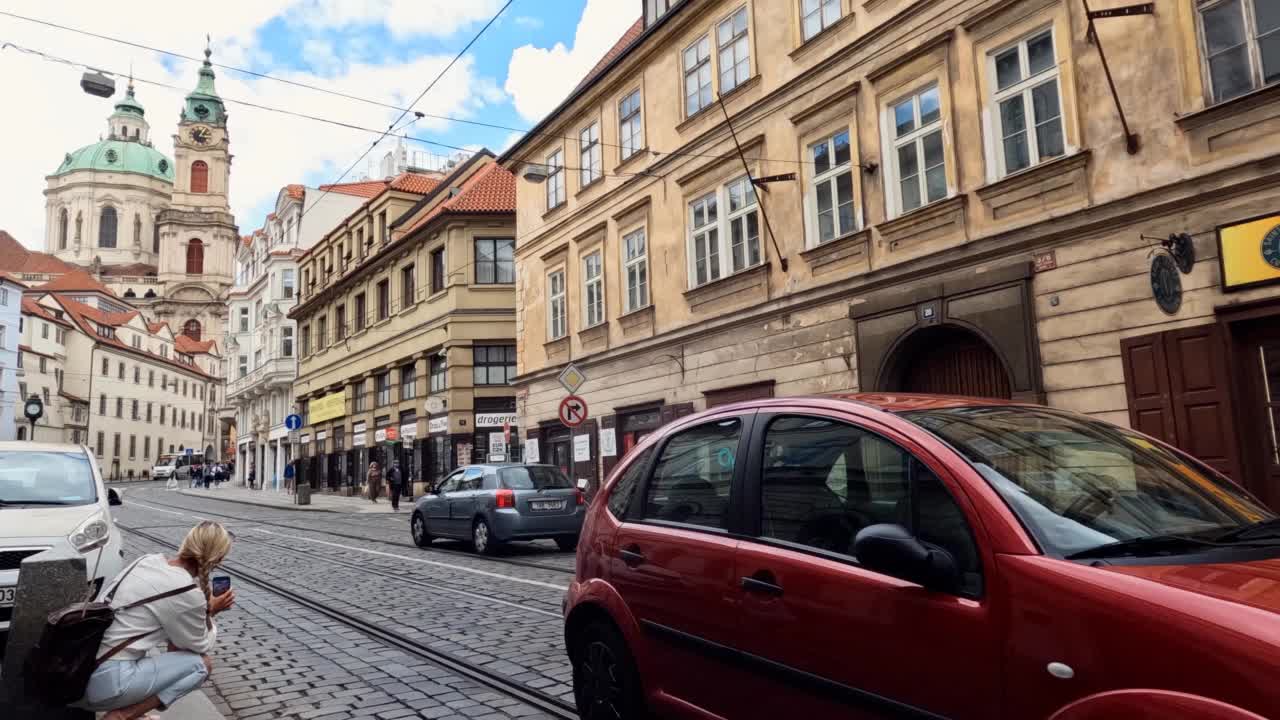
{"type": "Polygon", "coordinates": [[[573,33],[573,47],[522,45],[511,54],[507,92],[516,111],[536,122],[577,87],[586,73],[636,22],[635,0],[586,0],[573,33]]]}

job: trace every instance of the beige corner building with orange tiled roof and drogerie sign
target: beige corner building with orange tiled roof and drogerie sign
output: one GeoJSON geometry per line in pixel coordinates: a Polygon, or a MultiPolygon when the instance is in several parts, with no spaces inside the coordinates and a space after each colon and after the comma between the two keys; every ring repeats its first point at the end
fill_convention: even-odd
{"type": "Polygon", "coordinates": [[[481,151],[399,176],[298,260],[302,482],[356,492],[376,460],[420,492],[518,454],[513,251],[515,178],[481,151]]]}

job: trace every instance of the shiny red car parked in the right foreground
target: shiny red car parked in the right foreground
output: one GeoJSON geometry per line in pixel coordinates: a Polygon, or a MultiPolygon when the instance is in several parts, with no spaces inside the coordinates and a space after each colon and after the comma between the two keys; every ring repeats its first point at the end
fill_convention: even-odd
{"type": "Polygon", "coordinates": [[[1139,433],[760,400],[622,460],[564,602],[582,717],[1280,719],[1280,520],[1139,433]]]}

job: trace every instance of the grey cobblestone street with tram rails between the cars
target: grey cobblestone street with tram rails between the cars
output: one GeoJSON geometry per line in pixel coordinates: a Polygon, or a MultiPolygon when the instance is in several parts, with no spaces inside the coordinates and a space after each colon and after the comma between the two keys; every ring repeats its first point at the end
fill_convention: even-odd
{"type": "Polygon", "coordinates": [[[298,512],[129,487],[129,559],[172,552],[201,519],[236,536],[234,611],[205,693],[227,717],[572,716],[553,543],[476,557],[420,550],[408,514],[298,512]]]}

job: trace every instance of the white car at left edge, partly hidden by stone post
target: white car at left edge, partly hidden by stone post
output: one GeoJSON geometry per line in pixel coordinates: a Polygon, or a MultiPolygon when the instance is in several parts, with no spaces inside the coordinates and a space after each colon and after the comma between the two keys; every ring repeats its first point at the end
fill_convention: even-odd
{"type": "Polygon", "coordinates": [[[0,633],[9,629],[23,559],[54,547],[78,552],[95,589],[120,571],[124,544],[111,505],[120,505],[119,493],[102,484],[87,447],[0,442],[0,633]]]}

